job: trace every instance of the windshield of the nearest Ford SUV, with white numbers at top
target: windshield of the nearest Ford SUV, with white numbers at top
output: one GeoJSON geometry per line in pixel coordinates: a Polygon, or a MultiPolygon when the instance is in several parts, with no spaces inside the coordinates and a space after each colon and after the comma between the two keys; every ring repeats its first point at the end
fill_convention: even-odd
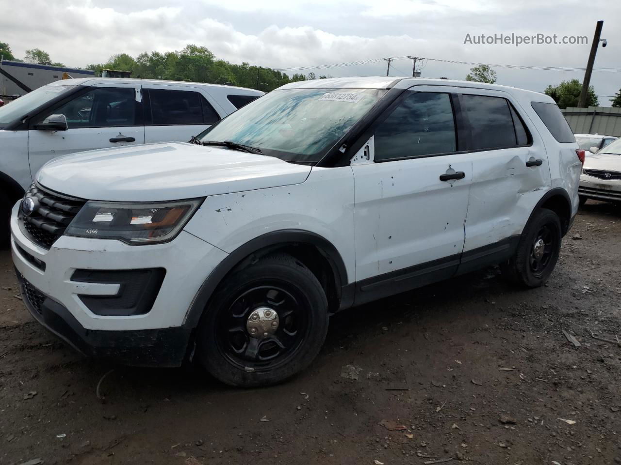
{"type": "Polygon", "coordinates": [[[385,89],[273,91],[211,126],[202,142],[230,141],[285,161],[317,163],[385,89]]]}

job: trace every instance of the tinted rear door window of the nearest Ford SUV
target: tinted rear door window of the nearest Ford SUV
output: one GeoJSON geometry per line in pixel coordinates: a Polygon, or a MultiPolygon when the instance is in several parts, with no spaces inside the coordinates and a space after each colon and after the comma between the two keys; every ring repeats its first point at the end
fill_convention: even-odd
{"type": "Polygon", "coordinates": [[[507,99],[487,95],[461,95],[461,102],[470,124],[473,150],[517,145],[512,108],[507,99]]]}

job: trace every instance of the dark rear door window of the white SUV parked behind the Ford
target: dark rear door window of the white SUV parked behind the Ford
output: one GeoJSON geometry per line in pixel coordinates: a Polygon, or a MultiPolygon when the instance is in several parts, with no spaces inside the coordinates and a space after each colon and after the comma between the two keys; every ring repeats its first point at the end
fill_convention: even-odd
{"type": "Polygon", "coordinates": [[[203,123],[201,94],[192,91],[149,89],[153,126],[203,123]]]}

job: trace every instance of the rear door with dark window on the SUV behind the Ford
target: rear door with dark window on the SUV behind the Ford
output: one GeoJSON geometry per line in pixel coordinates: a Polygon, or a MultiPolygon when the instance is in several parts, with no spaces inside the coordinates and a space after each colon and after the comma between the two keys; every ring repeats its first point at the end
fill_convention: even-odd
{"type": "Polygon", "coordinates": [[[211,96],[197,87],[161,84],[143,84],[142,87],[145,92],[145,143],[188,142],[192,136],[225,116],[211,96]]]}

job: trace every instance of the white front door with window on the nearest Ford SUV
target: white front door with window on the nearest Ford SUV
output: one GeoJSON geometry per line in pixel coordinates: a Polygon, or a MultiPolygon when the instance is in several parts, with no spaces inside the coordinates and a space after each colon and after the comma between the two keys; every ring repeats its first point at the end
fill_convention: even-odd
{"type": "Polygon", "coordinates": [[[406,91],[400,99],[351,165],[356,303],[450,277],[464,246],[472,165],[456,153],[453,97],[406,91]]]}

